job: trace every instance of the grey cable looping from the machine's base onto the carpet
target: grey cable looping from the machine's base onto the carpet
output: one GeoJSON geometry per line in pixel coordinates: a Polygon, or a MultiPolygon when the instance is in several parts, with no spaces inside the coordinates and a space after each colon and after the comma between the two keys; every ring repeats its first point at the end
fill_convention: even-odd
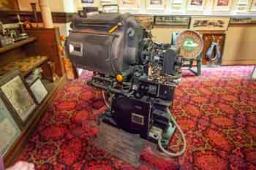
{"type": "MultiPolygon", "coordinates": [[[[170,114],[169,109],[167,109],[167,112],[170,114]]],[[[165,150],[165,148],[162,147],[162,136],[161,135],[158,138],[158,146],[159,146],[160,150],[162,150],[162,152],[164,152],[166,155],[169,155],[171,157],[178,157],[186,151],[187,142],[186,142],[185,135],[184,135],[183,131],[181,130],[181,127],[178,125],[178,123],[176,123],[176,120],[174,119],[173,115],[170,114],[170,118],[173,121],[174,125],[176,125],[176,127],[178,128],[178,131],[181,133],[181,138],[184,142],[183,148],[179,152],[169,152],[169,151],[165,150]]]]}

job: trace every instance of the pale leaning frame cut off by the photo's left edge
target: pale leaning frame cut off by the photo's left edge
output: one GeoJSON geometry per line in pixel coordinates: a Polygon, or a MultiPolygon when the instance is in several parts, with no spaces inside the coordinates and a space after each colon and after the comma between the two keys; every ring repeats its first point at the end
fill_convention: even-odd
{"type": "Polygon", "coordinates": [[[0,152],[4,155],[20,136],[20,128],[0,97],[0,152]]]}

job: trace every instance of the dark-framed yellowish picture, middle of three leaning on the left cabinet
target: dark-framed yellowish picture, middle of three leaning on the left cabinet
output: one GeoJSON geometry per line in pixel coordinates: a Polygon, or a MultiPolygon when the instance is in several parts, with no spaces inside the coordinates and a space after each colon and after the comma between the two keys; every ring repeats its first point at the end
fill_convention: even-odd
{"type": "Polygon", "coordinates": [[[26,123],[37,104],[31,90],[18,71],[10,72],[0,80],[0,94],[15,112],[20,123],[26,123]]]}

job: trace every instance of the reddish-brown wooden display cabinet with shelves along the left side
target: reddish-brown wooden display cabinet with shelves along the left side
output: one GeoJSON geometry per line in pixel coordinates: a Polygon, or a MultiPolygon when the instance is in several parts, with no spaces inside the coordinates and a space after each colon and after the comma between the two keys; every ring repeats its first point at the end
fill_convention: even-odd
{"type": "Polygon", "coordinates": [[[12,147],[4,155],[5,166],[10,166],[14,163],[19,153],[23,150],[23,144],[31,137],[40,118],[45,114],[47,107],[52,103],[53,98],[67,80],[66,74],[64,73],[64,63],[61,60],[61,53],[58,50],[61,44],[59,40],[59,28],[31,29],[27,30],[26,33],[29,34],[28,39],[0,48],[0,69],[7,66],[7,64],[28,58],[29,56],[41,55],[47,56],[48,59],[37,63],[34,68],[26,72],[21,72],[23,77],[28,76],[36,67],[43,67],[47,62],[51,61],[55,65],[56,74],[59,78],[55,82],[42,80],[45,88],[48,90],[48,96],[37,106],[34,114],[23,125],[23,130],[18,139],[13,142],[12,147]]]}

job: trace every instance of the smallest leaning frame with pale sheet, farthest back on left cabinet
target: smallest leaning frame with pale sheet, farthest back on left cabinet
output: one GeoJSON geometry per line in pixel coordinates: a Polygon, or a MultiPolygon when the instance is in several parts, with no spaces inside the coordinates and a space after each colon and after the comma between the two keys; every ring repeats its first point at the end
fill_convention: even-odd
{"type": "Polygon", "coordinates": [[[41,104],[45,97],[48,95],[45,85],[42,84],[40,79],[34,81],[30,86],[31,92],[34,94],[34,98],[37,99],[37,104],[41,104]]]}

